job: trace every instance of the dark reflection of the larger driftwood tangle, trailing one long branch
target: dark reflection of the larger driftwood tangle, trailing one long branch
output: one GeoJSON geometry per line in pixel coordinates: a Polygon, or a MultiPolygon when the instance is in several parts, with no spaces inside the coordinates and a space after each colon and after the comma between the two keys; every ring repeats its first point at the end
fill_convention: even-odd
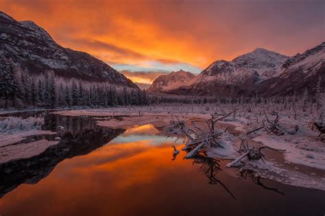
{"type": "Polygon", "coordinates": [[[208,156],[202,154],[197,154],[196,156],[191,157],[189,159],[193,160],[193,165],[200,165],[198,171],[202,172],[202,174],[204,174],[204,176],[206,176],[210,180],[208,184],[218,184],[218,183],[221,184],[221,186],[224,187],[224,189],[226,189],[228,193],[230,193],[230,195],[234,198],[234,200],[236,200],[236,198],[229,191],[226,185],[216,178],[217,173],[221,171],[219,165],[220,162],[219,159],[209,158],[208,156]]]}

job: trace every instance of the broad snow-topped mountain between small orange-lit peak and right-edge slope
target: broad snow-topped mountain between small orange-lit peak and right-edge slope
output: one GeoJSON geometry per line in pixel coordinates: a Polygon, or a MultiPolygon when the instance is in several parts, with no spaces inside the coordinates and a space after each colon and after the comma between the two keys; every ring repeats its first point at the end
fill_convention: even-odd
{"type": "Polygon", "coordinates": [[[173,91],[184,95],[252,95],[258,83],[275,77],[288,59],[274,51],[255,49],[232,61],[217,60],[202,71],[189,85],[173,91]]]}

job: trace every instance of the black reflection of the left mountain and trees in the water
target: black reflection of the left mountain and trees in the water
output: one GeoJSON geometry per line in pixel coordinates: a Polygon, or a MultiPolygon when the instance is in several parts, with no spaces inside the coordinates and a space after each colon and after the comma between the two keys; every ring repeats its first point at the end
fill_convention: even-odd
{"type": "Polygon", "coordinates": [[[12,191],[20,184],[35,184],[45,178],[65,158],[73,158],[93,152],[119,136],[125,130],[101,128],[91,117],[62,117],[47,115],[44,130],[56,131],[58,126],[64,129],[58,134],[62,138],[42,154],[14,160],[0,165],[0,197],[12,191]]]}

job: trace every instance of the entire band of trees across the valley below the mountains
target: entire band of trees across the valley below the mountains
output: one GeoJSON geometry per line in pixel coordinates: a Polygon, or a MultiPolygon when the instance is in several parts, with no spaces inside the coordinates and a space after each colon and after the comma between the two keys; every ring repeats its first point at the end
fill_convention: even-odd
{"type": "Polygon", "coordinates": [[[223,98],[178,95],[157,95],[140,89],[116,87],[82,80],[60,80],[51,71],[32,76],[14,65],[11,59],[0,58],[0,108],[65,108],[142,106],[149,104],[302,104],[304,110],[316,104],[324,108],[325,95],[321,79],[315,84],[316,95],[307,89],[302,95],[263,98],[223,98]]]}

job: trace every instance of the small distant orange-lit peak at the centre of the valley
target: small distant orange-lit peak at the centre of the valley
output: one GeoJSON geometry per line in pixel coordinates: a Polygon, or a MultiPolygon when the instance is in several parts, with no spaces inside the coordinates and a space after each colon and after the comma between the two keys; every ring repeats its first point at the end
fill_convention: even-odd
{"type": "Polygon", "coordinates": [[[152,85],[148,88],[148,91],[156,93],[168,93],[176,88],[188,84],[195,78],[195,75],[186,71],[171,72],[167,75],[160,75],[152,82],[152,85]]]}

